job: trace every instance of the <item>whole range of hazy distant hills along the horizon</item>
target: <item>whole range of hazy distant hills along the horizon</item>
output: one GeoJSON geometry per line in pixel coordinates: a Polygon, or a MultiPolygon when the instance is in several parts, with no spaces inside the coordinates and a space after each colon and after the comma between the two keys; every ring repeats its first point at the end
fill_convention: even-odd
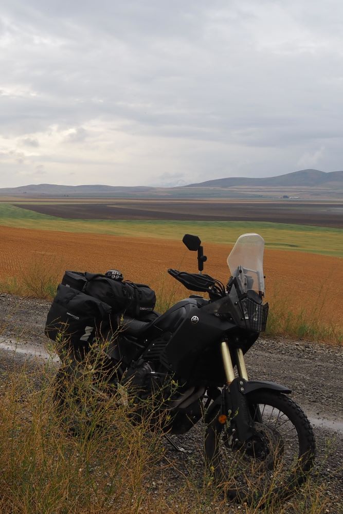
{"type": "Polygon", "coordinates": [[[15,197],[111,197],[111,198],[265,198],[283,194],[301,197],[343,196],[343,171],[300,170],[264,178],[228,177],[174,188],[121,187],[101,184],[59,186],[31,184],[0,189],[1,196],[15,197]]]}

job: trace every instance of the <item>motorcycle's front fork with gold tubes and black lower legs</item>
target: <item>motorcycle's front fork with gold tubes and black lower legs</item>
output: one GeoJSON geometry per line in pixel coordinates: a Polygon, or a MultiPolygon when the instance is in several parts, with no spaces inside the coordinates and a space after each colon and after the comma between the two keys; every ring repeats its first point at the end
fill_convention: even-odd
{"type": "Polygon", "coordinates": [[[248,401],[245,396],[245,383],[248,374],[245,367],[242,348],[236,348],[236,361],[238,377],[234,376],[232,359],[227,341],[221,343],[221,353],[225,370],[226,386],[222,390],[222,409],[218,418],[220,422],[226,422],[226,416],[230,418],[230,435],[237,442],[245,442],[252,436],[251,416],[248,401]]]}

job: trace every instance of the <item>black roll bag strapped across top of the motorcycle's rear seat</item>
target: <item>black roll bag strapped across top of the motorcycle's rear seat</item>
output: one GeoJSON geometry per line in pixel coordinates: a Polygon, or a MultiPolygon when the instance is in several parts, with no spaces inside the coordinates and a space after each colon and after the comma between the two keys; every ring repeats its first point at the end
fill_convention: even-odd
{"type": "Polygon", "coordinates": [[[113,280],[100,274],[86,273],[88,279],[83,291],[111,305],[113,313],[124,313],[133,318],[154,310],[155,291],[145,284],[113,280]]]}

